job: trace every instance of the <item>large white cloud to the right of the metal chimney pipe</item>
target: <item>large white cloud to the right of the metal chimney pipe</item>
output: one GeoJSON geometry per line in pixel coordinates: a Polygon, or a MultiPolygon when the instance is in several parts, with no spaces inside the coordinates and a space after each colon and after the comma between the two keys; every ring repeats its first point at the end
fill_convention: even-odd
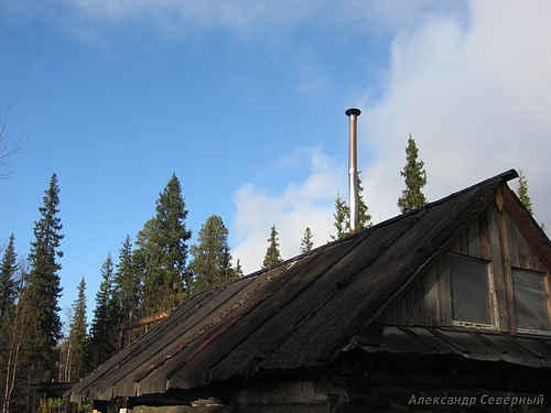
{"type": "Polygon", "coordinates": [[[544,1],[472,2],[468,25],[432,15],[395,37],[383,95],[366,99],[360,118],[377,150],[364,166],[377,220],[397,213],[410,133],[425,162],[430,199],[522,169],[536,215],[550,220],[550,12],[544,1]]]}

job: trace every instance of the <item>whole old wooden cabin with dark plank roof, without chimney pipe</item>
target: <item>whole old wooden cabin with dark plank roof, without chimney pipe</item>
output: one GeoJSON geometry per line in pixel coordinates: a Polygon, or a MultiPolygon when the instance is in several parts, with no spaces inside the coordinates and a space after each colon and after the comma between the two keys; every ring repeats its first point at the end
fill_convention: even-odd
{"type": "Polygon", "coordinates": [[[106,412],[549,412],[551,242],[478,183],[192,296],[67,396],[106,412]]]}

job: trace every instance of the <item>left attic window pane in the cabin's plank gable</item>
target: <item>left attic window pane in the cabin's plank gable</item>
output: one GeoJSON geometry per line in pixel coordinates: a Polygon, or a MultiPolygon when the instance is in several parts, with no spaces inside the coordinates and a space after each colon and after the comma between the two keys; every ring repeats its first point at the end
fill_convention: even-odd
{"type": "Polygon", "coordinates": [[[493,327],[488,261],[450,254],[447,269],[453,324],[493,327]]]}

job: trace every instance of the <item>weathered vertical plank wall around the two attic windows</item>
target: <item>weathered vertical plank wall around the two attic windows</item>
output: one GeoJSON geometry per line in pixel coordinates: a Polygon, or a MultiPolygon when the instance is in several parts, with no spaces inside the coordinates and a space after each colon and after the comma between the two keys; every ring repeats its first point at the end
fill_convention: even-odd
{"type": "Polygon", "coordinates": [[[497,328],[516,332],[511,268],[549,271],[504,208],[493,203],[382,316],[387,325],[451,326],[449,252],[489,261],[497,328]]]}

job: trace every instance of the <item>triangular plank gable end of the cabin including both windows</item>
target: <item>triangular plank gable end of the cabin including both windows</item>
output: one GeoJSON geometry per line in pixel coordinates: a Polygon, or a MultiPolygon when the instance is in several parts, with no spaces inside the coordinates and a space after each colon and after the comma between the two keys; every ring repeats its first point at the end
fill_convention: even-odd
{"type": "Polygon", "coordinates": [[[549,337],[550,259],[549,239],[504,185],[379,320],[549,337]]]}

